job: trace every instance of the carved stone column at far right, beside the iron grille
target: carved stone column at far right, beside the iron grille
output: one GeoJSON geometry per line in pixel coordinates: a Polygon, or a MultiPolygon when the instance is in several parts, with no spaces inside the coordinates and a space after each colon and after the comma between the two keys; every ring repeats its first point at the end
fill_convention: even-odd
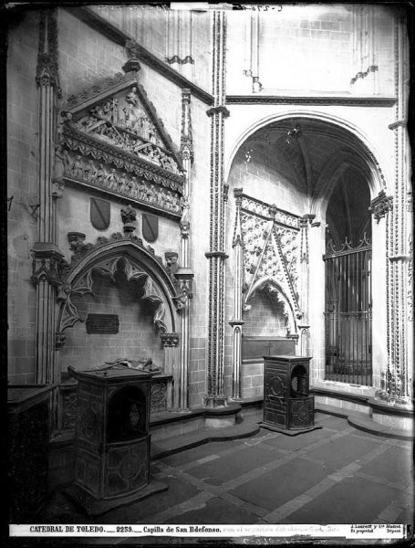
{"type": "Polygon", "coordinates": [[[410,235],[411,215],[408,211],[410,191],[410,146],[406,129],[408,109],[409,52],[406,28],[400,13],[395,21],[395,121],[389,125],[395,137],[395,177],[393,206],[389,213],[388,196],[381,196],[374,214],[387,210],[387,307],[388,307],[388,367],[385,388],[389,403],[411,405],[412,373],[410,353],[413,334],[410,316],[411,288],[410,235]]]}

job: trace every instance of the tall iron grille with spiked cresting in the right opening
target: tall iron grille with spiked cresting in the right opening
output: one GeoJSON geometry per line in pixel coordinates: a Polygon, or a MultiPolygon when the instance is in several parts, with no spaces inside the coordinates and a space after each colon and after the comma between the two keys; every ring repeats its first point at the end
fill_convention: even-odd
{"type": "Polygon", "coordinates": [[[326,262],[326,379],[372,384],[371,245],[329,245],[326,262]]]}

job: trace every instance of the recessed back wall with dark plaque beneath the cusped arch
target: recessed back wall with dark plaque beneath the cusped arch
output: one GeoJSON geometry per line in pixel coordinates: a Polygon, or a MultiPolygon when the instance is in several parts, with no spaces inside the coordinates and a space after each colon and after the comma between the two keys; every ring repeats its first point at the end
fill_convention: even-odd
{"type": "MultiPolygon", "coordinates": [[[[160,302],[145,298],[146,276],[128,279],[125,262],[119,258],[111,277],[99,269],[91,272],[91,292],[76,295],[73,304],[85,321],[67,330],[62,349],[62,365],[79,369],[95,368],[119,358],[150,359],[163,367],[160,330],[153,322],[160,302]],[[88,320],[111,315],[116,332],[88,332],[88,320]]],[[[108,316],[107,316],[108,317],[108,316]]]]}

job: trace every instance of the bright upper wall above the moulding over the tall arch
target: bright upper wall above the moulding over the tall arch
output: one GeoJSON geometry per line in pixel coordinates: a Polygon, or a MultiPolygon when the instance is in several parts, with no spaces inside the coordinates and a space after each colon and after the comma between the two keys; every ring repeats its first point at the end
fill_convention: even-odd
{"type": "MultiPolygon", "coordinates": [[[[257,69],[252,76],[259,77],[265,93],[267,90],[301,90],[306,94],[346,92],[353,90],[350,81],[358,70],[366,70],[370,65],[379,68],[377,92],[391,93],[393,20],[382,7],[376,10],[373,23],[368,22],[372,14],[367,17],[366,24],[373,25],[376,43],[369,58],[366,52],[370,46],[365,44],[368,35],[363,32],[355,37],[353,33],[354,12],[358,9],[359,6],[349,5],[285,4],[270,5],[268,9],[263,6],[256,14],[249,9],[233,12],[228,18],[227,93],[252,92],[249,70],[254,68],[255,56],[257,69]],[[251,53],[248,44],[255,25],[257,51],[251,53]],[[361,52],[355,47],[356,40],[363,44],[361,52]]],[[[374,87],[368,92],[373,93],[374,87]]]]}

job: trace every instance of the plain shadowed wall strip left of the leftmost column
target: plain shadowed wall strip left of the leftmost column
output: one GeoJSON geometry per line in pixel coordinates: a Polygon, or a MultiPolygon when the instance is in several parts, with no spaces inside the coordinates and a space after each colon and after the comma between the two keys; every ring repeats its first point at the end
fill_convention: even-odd
{"type": "Polygon", "coordinates": [[[10,383],[35,382],[36,289],[30,249],[37,227],[37,21],[16,16],[7,49],[8,374],[10,383]]]}

